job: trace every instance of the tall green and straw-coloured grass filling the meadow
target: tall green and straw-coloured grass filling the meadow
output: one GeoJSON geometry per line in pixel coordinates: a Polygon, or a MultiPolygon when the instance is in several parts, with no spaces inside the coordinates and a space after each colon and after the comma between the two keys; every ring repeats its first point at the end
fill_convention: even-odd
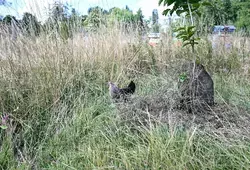
{"type": "Polygon", "coordinates": [[[150,47],[136,33],[103,29],[67,42],[47,35],[1,42],[0,108],[10,115],[0,129],[1,169],[249,169],[249,49],[212,50],[205,37],[196,48],[215,81],[214,113],[225,118],[217,127],[165,106],[178,92],[178,67],[194,55],[170,37],[150,47]],[[112,104],[107,82],[131,79],[132,103],[112,104]],[[154,107],[138,106],[143,100],[154,107]],[[153,121],[151,113],[188,123],[153,121]],[[148,124],[132,119],[141,114],[148,124]]]}

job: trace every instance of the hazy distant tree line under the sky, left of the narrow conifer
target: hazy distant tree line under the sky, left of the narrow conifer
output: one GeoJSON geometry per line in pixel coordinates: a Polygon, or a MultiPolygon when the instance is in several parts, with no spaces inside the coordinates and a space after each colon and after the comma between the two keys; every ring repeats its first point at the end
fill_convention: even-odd
{"type": "MultiPolygon", "coordinates": [[[[1,2],[6,5],[7,2],[1,2]]],[[[0,4],[0,5],[1,5],[0,4]]],[[[135,14],[126,6],[124,9],[117,7],[111,8],[109,11],[102,9],[99,6],[88,9],[87,15],[80,15],[75,8],[70,10],[67,4],[55,2],[49,10],[49,18],[45,23],[41,23],[37,18],[30,14],[24,13],[21,20],[17,20],[14,16],[7,15],[0,24],[11,26],[12,21],[17,25],[26,35],[39,35],[41,31],[46,33],[53,33],[67,39],[72,36],[73,32],[96,31],[100,27],[112,27],[115,24],[124,28],[136,28],[139,32],[144,32],[146,22],[139,9],[135,14]]]]}

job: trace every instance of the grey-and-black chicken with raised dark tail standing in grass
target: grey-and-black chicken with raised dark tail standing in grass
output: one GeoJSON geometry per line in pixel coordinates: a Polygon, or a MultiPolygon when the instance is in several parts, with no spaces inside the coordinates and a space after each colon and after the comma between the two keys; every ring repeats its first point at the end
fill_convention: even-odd
{"type": "Polygon", "coordinates": [[[127,87],[118,88],[114,83],[109,82],[109,94],[112,99],[120,99],[121,97],[124,100],[127,100],[127,96],[135,92],[135,83],[131,81],[127,87]]]}

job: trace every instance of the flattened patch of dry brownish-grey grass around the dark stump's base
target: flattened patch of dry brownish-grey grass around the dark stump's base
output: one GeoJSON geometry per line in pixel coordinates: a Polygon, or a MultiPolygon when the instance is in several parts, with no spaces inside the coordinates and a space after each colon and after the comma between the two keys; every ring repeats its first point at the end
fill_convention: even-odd
{"type": "Polygon", "coordinates": [[[220,103],[211,106],[209,112],[192,114],[176,107],[177,95],[173,95],[175,98],[167,96],[135,97],[128,103],[119,103],[119,118],[131,126],[166,124],[169,129],[196,127],[202,132],[225,137],[250,136],[250,114],[244,108],[220,103]]]}

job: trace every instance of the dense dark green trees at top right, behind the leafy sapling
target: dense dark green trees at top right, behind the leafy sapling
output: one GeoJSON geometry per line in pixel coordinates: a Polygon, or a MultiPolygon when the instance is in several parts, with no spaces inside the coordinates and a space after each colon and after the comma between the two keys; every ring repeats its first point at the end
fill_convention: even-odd
{"type": "Polygon", "coordinates": [[[235,24],[237,30],[245,32],[250,30],[250,0],[210,0],[209,2],[210,6],[199,9],[202,14],[201,18],[196,20],[199,30],[212,28],[214,25],[229,24],[235,24]]]}

